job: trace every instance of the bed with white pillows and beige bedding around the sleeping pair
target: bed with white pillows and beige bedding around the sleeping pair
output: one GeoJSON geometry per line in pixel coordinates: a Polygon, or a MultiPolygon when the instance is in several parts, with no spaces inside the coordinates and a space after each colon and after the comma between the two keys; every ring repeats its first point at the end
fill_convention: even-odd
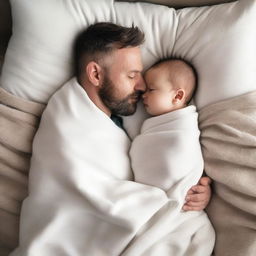
{"type": "MultiPolygon", "coordinates": [[[[2,56],[6,51],[0,82],[1,255],[18,246],[21,204],[28,195],[32,143],[41,114],[49,98],[73,76],[75,35],[97,21],[139,26],[146,36],[145,69],[169,56],[186,58],[196,67],[195,103],[205,172],[213,179],[207,213],[216,231],[214,254],[255,255],[256,2],[149,2],[1,3],[1,10],[6,10],[1,16],[6,20],[1,28],[2,56]],[[12,36],[6,50],[10,8],[12,36]]],[[[144,118],[139,108],[124,119],[131,138],[139,133],[144,118]]]]}

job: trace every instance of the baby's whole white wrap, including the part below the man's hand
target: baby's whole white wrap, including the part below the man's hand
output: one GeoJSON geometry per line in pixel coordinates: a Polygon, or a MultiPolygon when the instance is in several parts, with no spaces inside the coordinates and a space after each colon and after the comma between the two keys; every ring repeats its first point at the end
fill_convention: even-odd
{"type": "Polygon", "coordinates": [[[205,212],[182,211],[187,191],[203,173],[197,117],[195,106],[151,117],[132,142],[134,180],[165,190],[176,204],[165,221],[159,218],[154,227],[151,224],[137,235],[129,255],[212,254],[215,235],[205,212]]]}

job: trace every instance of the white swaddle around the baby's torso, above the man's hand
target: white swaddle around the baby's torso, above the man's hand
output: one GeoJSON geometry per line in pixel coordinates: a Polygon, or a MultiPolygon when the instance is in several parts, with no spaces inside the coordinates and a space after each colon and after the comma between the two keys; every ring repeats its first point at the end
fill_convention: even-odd
{"type": "Polygon", "coordinates": [[[203,174],[203,157],[199,143],[198,114],[191,105],[170,113],[148,118],[131,146],[134,180],[173,192],[184,203],[186,192],[203,174]],[[177,190],[178,186],[177,186],[177,190]]]}

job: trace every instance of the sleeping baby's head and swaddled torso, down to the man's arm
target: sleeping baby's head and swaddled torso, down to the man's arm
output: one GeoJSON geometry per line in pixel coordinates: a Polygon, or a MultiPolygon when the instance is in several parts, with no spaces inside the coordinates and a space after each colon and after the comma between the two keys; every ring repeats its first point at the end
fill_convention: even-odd
{"type": "Polygon", "coordinates": [[[144,78],[143,103],[153,117],[143,123],[131,148],[134,176],[137,182],[168,191],[189,174],[195,160],[198,178],[203,172],[198,114],[194,105],[188,105],[197,76],[188,62],[170,59],[153,65],[144,78]]]}

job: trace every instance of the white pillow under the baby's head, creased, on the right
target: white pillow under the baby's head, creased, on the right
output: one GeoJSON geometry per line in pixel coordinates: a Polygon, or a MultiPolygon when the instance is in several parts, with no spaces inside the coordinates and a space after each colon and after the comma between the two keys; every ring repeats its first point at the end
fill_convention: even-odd
{"type": "MultiPolygon", "coordinates": [[[[118,13],[134,6],[129,19],[136,20],[146,32],[145,69],[169,56],[183,57],[193,63],[199,76],[195,97],[198,110],[256,89],[255,1],[177,11],[164,6],[151,8],[150,4],[143,3],[116,6],[118,13]]],[[[121,24],[129,25],[129,19],[117,15],[117,22],[121,24]]],[[[126,117],[124,124],[130,136],[136,136],[141,111],[126,117]]]]}

